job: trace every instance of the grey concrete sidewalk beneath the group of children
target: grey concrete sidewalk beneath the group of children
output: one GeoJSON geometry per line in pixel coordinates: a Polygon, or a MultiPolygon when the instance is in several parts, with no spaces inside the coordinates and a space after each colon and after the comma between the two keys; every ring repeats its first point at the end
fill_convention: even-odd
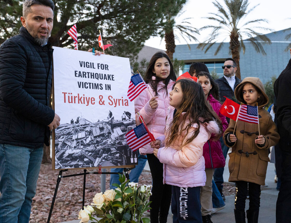
{"type": "MultiPolygon", "coordinates": [[[[226,165],[224,167],[223,179],[224,181],[228,181],[229,172],[228,172],[228,160],[229,157],[227,156],[226,165]]],[[[278,197],[278,192],[276,190],[276,183],[274,183],[274,172],[275,165],[274,163],[268,163],[267,167],[267,175],[265,183],[268,184],[267,187],[261,187],[261,204],[260,204],[260,214],[259,214],[259,223],[274,223],[276,222],[276,201],[278,197]]],[[[143,171],[149,171],[150,168],[148,166],[148,162],[145,165],[143,171]]],[[[217,213],[213,214],[211,218],[213,223],[230,223],[235,222],[235,216],[233,212],[234,208],[234,201],[235,195],[226,196],[226,207],[217,213]]],[[[246,209],[249,208],[249,200],[246,199],[246,209]]],[[[147,217],[147,215],[145,215],[147,217]]],[[[168,222],[172,222],[172,213],[171,208],[168,215],[168,222]]],[[[79,223],[80,220],[74,220],[69,222],[62,222],[62,223],[79,223]]]]}

